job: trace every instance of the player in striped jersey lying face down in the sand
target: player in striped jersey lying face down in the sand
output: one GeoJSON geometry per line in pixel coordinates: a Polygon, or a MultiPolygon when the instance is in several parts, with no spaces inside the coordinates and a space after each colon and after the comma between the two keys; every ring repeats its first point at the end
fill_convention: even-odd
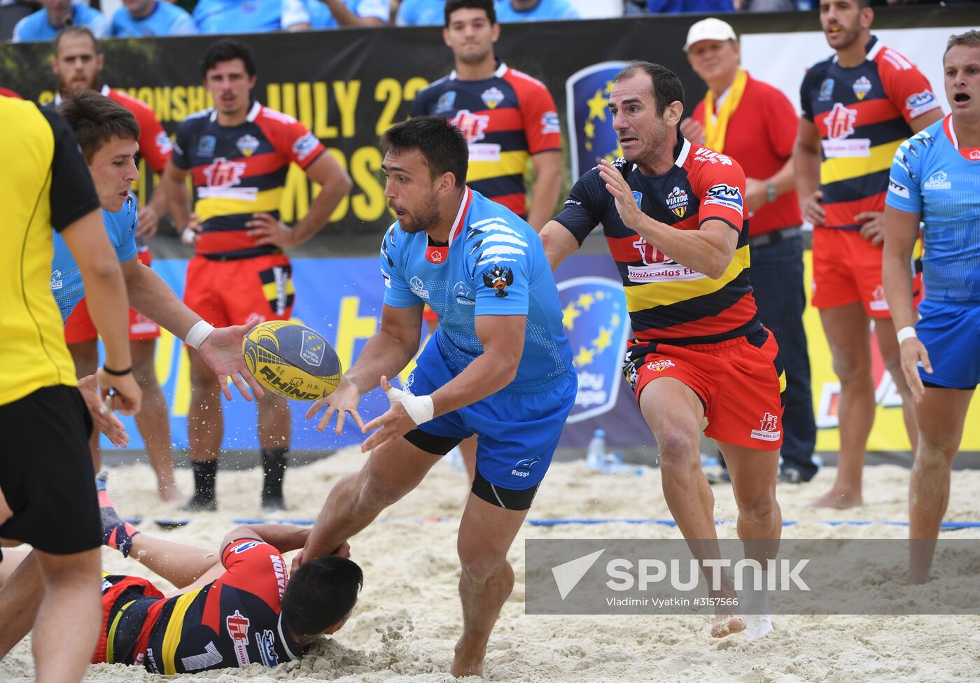
{"type": "MultiPolygon", "coordinates": [[[[319,636],[335,633],[354,610],[363,574],[348,559],[346,544],[290,578],[282,554],[302,548],[309,529],[239,526],[225,535],[218,553],[182,546],[123,521],[105,479],[97,483],[105,544],[177,590],[165,595],[147,579],[103,573],[103,626],[93,663],[134,664],[163,674],[258,662],[275,666],[302,656],[319,636]]],[[[34,563],[29,554],[5,553],[0,579],[12,585],[26,581],[24,590],[5,592],[22,596],[22,604],[0,605],[0,617],[37,609],[40,591],[28,585],[32,577],[39,581],[30,570],[34,563]]],[[[0,657],[17,642],[8,645],[8,635],[0,657]]]]}

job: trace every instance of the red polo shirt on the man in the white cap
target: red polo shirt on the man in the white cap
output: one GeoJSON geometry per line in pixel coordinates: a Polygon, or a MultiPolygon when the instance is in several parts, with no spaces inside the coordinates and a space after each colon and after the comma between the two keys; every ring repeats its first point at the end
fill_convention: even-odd
{"type": "MultiPolygon", "coordinates": [[[[692,118],[704,124],[705,101],[692,118]]],[[[746,177],[765,180],[783,168],[793,154],[798,117],[786,96],[751,75],[738,109],[728,122],[724,152],[739,163],[746,177]]],[[[748,216],[749,234],[756,235],[803,223],[796,190],[779,195],[748,216]]]]}

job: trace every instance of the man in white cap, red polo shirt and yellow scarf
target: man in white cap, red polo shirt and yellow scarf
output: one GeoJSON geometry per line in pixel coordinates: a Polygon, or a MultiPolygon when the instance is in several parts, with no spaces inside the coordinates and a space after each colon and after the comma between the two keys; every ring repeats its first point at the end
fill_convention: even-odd
{"type": "Polygon", "coordinates": [[[780,478],[809,481],[816,473],[816,424],[803,326],[803,219],[791,161],[796,111],[779,90],[739,66],[738,38],[729,24],[713,18],[694,24],[684,50],[709,90],[681,132],[732,157],[747,176],[750,276],[759,317],[775,335],[786,368],[780,478]]]}

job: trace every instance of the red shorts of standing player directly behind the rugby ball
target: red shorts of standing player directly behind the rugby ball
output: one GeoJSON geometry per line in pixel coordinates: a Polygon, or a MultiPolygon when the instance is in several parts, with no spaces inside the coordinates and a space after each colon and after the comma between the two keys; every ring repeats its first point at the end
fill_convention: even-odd
{"type": "Polygon", "coordinates": [[[263,321],[288,320],[292,274],[285,254],[235,261],[195,256],[187,264],[184,303],[216,327],[244,324],[253,314],[263,321]]]}

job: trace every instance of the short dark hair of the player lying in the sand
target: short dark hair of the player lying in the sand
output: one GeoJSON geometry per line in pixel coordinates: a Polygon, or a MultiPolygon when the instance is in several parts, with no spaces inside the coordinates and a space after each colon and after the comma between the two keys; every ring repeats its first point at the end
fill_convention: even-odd
{"type": "Polygon", "coordinates": [[[355,561],[327,555],[309,561],[293,574],[282,596],[282,617],[293,633],[313,638],[343,621],[364,586],[364,572],[355,561]]]}

